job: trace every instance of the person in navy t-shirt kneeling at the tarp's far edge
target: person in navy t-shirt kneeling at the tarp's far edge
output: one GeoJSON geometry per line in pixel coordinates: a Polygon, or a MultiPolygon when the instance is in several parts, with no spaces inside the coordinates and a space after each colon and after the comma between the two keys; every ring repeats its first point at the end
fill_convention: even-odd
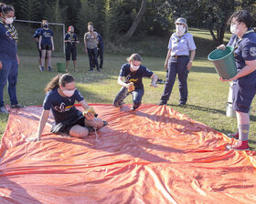
{"type": "Polygon", "coordinates": [[[127,58],[128,63],[121,67],[120,75],[118,77],[117,83],[122,86],[119,93],[113,101],[115,107],[122,107],[123,100],[130,94],[133,95],[133,107],[132,110],[137,109],[142,104],[142,98],[144,96],[144,85],[143,77],[151,77],[151,87],[157,87],[155,82],[157,81],[157,76],[147,69],[147,67],[142,66],[142,58],[139,54],[133,54],[127,58]]]}

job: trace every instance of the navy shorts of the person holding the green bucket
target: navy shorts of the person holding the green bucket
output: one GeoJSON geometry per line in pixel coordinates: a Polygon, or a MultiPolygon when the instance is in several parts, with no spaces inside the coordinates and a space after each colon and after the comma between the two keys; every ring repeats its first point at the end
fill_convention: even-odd
{"type": "Polygon", "coordinates": [[[232,87],[233,109],[243,113],[249,113],[251,102],[256,94],[256,82],[248,78],[240,78],[232,87]]]}

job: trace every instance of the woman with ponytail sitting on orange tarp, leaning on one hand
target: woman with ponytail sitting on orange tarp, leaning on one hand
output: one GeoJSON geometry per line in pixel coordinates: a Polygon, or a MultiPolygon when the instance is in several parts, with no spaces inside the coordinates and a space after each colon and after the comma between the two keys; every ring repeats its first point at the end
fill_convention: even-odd
{"type": "Polygon", "coordinates": [[[67,133],[71,137],[85,138],[92,128],[101,128],[106,125],[90,107],[76,88],[75,79],[69,74],[55,76],[45,88],[47,93],[43,112],[37,128],[37,136],[32,140],[41,138],[43,129],[48,121],[49,110],[52,111],[55,123],[51,132],[55,134],[67,133]],[[81,112],[74,104],[78,101],[85,109],[81,112]]]}

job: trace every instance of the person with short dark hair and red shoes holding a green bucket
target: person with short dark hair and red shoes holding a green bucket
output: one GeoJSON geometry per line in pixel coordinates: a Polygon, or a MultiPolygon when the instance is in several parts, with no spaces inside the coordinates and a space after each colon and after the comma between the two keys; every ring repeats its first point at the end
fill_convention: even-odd
{"type": "MultiPolygon", "coordinates": [[[[232,102],[236,111],[238,131],[229,134],[229,138],[238,141],[226,148],[235,150],[248,150],[248,136],[250,129],[249,111],[251,101],[256,94],[256,34],[251,28],[253,18],[246,10],[235,12],[229,18],[231,36],[228,46],[234,48],[237,74],[229,79],[220,77],[221,81],[233,81],[232,102]]],[[[226,46],[220,45],[218,49],[225,50],[226,46]]]]}

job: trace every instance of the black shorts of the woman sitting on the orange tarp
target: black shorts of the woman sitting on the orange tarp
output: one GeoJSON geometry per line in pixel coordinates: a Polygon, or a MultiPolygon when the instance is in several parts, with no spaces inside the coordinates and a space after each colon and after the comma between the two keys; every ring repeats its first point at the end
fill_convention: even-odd
{"type": "MultiPolygon", "coordinates": [[[[70,118],[69,120],[62,121],[61,123],[53,125],[50,132],[52,132],[54,134],[60,134],[60,133],[69,134],[70,129],[76,125],[88,128],[84,125],[84,119],[85,119],[85,117],[83,115],[81,115],[80,117],[77,117],[75,119],[70,118]]],[[[88,130],[90,130],[90,128],[88,128],[88,130]]]]}

